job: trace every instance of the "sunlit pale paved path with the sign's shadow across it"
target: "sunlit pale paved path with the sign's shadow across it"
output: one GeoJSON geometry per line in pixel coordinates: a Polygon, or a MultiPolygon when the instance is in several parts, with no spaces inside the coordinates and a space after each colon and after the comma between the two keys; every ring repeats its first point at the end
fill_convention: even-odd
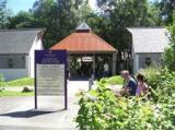
{"type": "Polygon", "coordinates": [[[75,129],[73,119],[79,106],[74,96],[89,88],[88,81],[68,82],[68,110],[62,110],[62,97],[39,97],[34,109],[34,97],[0,97],[0,129],[75,129]]]}

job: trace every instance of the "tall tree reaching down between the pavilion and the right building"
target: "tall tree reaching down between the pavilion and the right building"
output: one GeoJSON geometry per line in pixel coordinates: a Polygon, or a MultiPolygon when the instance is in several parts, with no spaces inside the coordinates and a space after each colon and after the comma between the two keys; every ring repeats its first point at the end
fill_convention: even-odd
{"type": "Polygon", "coordinates": [[[156,25],[148,0],[97,0],[97,5],[109,21],[107,40],[118,49],[120,59],[131,53],[131,35],[126,27],[156,25]]]}

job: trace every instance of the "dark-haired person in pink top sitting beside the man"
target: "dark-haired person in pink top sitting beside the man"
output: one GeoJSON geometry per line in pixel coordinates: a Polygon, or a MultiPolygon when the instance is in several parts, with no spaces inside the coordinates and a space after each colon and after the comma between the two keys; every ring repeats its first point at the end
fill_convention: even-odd
{"type": "Polygon", "coordinates": [[[144,75],[142,75],[141,73],[138,73],[137,81],[138,81],[138,87],[136,91],[136,95],[137,96],[145,95],[148,93],[148,85],[145,83],[144,75]]]}

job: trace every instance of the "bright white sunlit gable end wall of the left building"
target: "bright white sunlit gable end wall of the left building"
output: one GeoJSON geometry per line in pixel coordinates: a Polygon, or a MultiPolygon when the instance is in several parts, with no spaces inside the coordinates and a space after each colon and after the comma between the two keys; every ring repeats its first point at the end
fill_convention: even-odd
{"type": "Polygon", "coordinates": [[[40,49],[44,49],[43,44],[42,44],[42,39],[40,38],[38,39],[36,36],[35,40],[33,43],[33,46],[30,50],[30,57],[28,57],[28,76],[30,78],[34,78],[35,50],[40,50],[40,49]]]}

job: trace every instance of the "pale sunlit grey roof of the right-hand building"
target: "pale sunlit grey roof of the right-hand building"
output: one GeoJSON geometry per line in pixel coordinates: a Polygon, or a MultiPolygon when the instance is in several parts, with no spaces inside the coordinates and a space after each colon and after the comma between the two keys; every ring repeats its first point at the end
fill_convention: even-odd
{"type": "Polygon", "coordinates": [[[128,27],[132,34],[135,52],[164,52],[168,45],[168,32],[163,27],[128,27]]]}

